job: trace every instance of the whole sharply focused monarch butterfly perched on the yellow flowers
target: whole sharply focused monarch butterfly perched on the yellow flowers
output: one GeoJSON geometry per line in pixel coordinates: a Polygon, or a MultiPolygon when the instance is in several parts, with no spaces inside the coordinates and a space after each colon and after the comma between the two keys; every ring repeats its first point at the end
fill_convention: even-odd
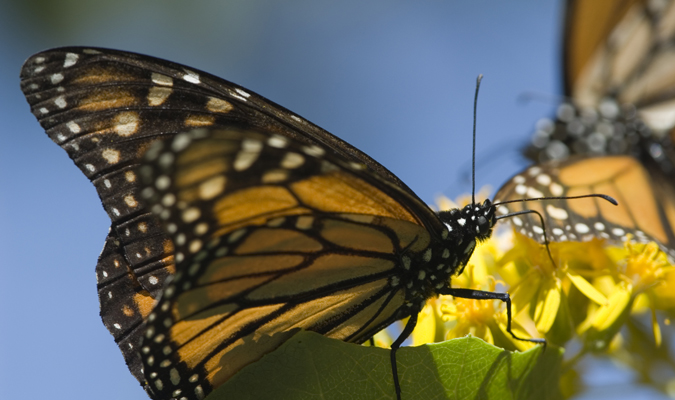
{"type": "Polygon", "coordinates": [[[400,396],[395,350],[427,298],[510,313],[508,294],[450,287],[501,218],[489,200],[434,213],[348,143],[168,61],[61,48],[21,77],[111,217],[101,316],[155,399],[201,399],[298,328],[361,343],[410,316],[391,352],[400,396]]]}

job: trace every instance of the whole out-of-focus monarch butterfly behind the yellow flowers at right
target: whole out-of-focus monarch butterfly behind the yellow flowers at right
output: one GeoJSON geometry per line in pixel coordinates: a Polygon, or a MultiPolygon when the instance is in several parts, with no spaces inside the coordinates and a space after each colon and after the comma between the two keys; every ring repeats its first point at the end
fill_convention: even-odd
{"type": "MultiPolygon", "coordinates": [[[[550,240],[621,244],[630,234],[639,242],[656,240],[675,258],[674,21],[671,1],[567,3],[566,101],[555,121],[538,123],[524,151],[537,165],[502,187],[495,201],[605,193],[621,207],[587,199],[531,208],[544,212],[550,240]]],[[[516,203],[502,212],[519,209],[516,203]]],[[[511,223],[543,241],[538,219],[511,223]]]]}

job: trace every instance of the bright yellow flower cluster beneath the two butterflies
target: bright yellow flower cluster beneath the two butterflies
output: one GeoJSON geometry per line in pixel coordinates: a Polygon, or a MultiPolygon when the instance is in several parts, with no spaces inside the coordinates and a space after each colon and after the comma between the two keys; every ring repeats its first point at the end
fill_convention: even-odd
{"type": "MultiPolygon", "coordinates": [[[[456,207],[447,199],[439,205],[456,207]]],[[[516,335],[543,336],[558,346],[574,339],[583,344],[581,353],[611,349],[630,316],[649,310],[658,345],[657,311],[675,308],[675,269],[656,243],[631,239],[622,247],[601,239],[551,243],[551,260],[542,244],[510,229],[497,230],[452,285],[508,292],[516,335]]],[[[413,344],[471,334],[506,349],[532,346],[506,333],[506,322],[499,301],[441,296],[424,308],[413,344]]]]}

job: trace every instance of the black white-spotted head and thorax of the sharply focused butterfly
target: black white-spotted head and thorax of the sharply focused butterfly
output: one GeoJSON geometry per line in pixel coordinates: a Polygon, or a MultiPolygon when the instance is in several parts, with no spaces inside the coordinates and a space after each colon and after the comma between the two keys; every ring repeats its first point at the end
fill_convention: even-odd
{"type": "Polygon", "coordinates": [[[469,204],[438,213],[446,229],[439,240],[424,251],[401,256],[405,272],[394,278],[392,284],[405,282],[408,309],[421,309],[426,300],[450,286],[453,275],[464,270],[476,243],[492,234],[495,224],[495,209],[490,200],[483,204],[469,204]],[[400,280],[400,281],[399,281],[400,280]]]}

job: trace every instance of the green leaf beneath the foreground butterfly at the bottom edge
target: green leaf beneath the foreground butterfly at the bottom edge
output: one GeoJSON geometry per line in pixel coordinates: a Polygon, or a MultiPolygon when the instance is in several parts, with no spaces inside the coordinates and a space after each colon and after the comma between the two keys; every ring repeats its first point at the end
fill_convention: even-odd
{"type": "MultiPolygon", "coordinates": [[[[387,349],[300,332],[207,400],[395,399],[387,349]]],[[[524,353],[466,337],[396,353],[402,399],[562,399],[562,350],[524,353]]]]}

